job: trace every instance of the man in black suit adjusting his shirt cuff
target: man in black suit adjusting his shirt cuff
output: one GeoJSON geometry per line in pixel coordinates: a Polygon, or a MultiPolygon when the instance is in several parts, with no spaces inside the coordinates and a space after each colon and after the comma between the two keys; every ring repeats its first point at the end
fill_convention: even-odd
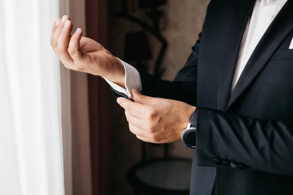
{"type": "Polygon", "coordinates": [[[132,133],[196,147],[192,195],[293,194],[293,0],[211,0],[173,81],[116,59],[81,29],[70,38],[71,29],[68,17],[57,20],[54,50],[125,97],[117,101],[132,133]]]}

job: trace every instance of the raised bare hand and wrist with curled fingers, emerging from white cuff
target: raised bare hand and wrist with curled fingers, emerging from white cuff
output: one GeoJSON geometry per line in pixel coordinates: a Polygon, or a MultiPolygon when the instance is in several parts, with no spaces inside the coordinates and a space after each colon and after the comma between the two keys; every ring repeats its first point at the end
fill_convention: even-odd
{"type": "Polygon", "coordinates": [[[71,36],[73,25],[68,16],[54,23],[50,43],[68,69],[98,75],[125,88],[125,69],[118,59],[93,39],[82,37],[78,28],[71,36]]]}

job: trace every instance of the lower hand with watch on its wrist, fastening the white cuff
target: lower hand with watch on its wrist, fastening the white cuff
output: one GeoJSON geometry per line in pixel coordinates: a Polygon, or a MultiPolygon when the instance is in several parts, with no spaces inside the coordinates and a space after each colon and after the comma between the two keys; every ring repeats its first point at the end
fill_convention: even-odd
{"type": "Polygon", "coordinates": [[[125,109],[130,131],[137,138],[151,143],[171,143],[181,140],[183,130],[195,111],[181,101],[151,98],[132,90],[135,102],[118,98],[117,102],[125,109]]]}

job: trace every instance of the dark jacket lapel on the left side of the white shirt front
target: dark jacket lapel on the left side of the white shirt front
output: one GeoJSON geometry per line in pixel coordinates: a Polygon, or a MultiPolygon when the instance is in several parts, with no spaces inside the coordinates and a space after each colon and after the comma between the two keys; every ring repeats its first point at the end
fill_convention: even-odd
{"type": "Polygon", "coordinates": [[[226,109],[231,95],[231,84],[235,71],[236,61],[238,58],[239,48],[245,27],[252,14],[254,2],[255,0],[242,0],[237,5],[238,11],[234,16],[231,24],[218,93],[218,109],[222,111],[226,109]]]}

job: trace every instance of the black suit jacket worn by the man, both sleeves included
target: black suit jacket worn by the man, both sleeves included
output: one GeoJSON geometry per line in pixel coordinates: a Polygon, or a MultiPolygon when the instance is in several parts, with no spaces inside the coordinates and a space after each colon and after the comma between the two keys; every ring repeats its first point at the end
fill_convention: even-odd
{"type": "MultiPolygon", "coordinates": [[[[142,94],[199,108],[191,195],[293,195],[293,0],[260,40],[232,93],[255,0],[212,0],[173,81],[139,70],[142,94]]],[[[122,96],[115,92],[117,96],[122,96]]]]}

